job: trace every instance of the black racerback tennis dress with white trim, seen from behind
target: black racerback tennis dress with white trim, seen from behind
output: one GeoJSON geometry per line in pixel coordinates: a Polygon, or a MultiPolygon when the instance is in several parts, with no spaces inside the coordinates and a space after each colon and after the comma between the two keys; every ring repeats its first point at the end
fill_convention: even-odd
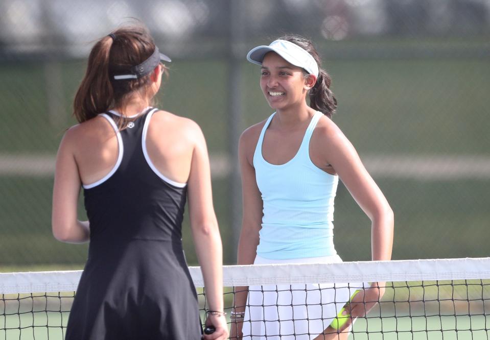
{"type": "Polygon", "coordinates": [[[66,340],[198,340],[197,296],[182,251],[185,183],[160,174],[146,151],[149,108],[119,132],[118,113],[102,114],[119,157],[84,186],[88,260],[69,315],[66,340]]]}

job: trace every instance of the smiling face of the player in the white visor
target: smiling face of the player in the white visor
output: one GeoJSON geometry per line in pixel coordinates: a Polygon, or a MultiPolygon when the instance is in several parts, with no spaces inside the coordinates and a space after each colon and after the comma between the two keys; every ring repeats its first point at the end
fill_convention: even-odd
{"type": "Polygon", "coordinates": [[[275,52],[267,53],[262,61],[260,86],[265,99],[275,110],[306,104],[306,94],[311,88],[303,69],[275,52]]]}

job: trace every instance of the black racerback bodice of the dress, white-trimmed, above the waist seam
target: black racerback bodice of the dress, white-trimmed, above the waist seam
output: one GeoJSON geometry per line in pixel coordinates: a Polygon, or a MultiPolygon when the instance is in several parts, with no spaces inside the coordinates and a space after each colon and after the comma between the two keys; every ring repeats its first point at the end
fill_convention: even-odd
{"type": "Polygon", "coordinates": [[[119,157],[103,179],[84,185],[90,221],[90,244],[99,238],[148,239],[181,242],[186,184],[160,174],[146,149],[153,113],[148,109],[119,131],[119,113],[102,114],[118,136],[119,157]]]}

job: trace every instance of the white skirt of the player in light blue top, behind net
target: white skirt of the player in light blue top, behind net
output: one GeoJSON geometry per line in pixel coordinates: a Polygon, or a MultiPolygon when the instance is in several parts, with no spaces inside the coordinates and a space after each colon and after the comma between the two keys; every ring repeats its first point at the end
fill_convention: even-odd
{"type": "MultiPolygon", "coordinates": [[[[288,260],[255,257],[254,264],[338,263],[338,255],[288,260]]],[[[243,322],[246,340],[311,340],[330,326],[362,283],[250,286],[243,322]]]]}

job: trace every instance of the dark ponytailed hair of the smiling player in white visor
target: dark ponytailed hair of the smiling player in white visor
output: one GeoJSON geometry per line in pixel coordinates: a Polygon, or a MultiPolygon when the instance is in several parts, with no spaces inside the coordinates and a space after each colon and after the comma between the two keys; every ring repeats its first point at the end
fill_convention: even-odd
{"type": "MultiPolygon", "coordinates": [[[[309,93],[310,106],[312,109],[320,111],[324,115],[331,118],[335,113],[335,109],[337,108],[337,99],[335,99],[334,93],[330,89],[332,79],[330,78],[330,75],[321,68],[320,56],[313,46],[313,43],[311,40],[296,34],[288,34],[279,39],[298,45],[299,47],[303,48],[303,50],[311,54],[315,59],[316,63],[318,64],[319,74],[315,85],[309,93]]],[[[305,70],[305,74],[309,74],[309,72],[305,70]]]]}

